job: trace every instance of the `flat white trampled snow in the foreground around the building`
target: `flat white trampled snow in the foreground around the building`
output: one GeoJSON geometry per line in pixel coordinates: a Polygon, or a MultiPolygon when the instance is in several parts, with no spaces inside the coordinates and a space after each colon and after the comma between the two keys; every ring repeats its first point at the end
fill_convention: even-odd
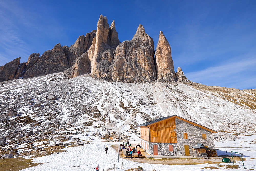
{"type": "MultiPolygon", "coordinates": [[[[227,141],[227,142],[215,142],[216,148],[219,149],[218,155],[230,155],[231,151],[243,153],[244,165],[246,169],[243,169],[242,162],[240,162],[240,170],[253,170],[256,169],[256,144],[249,144],[252,141],[255,142],[255,135],[242,136],[239,141],[227,141]],[[242,140],[242,142],[241,142],[242,140]],[[243,145],[243,148],[240,146],[243,145]],[[227,150],[227,153],[226,153],[227,150]],[[253,158],[253,159],[252,159],[253,158]]],[[[134,141],[135,143],[136,141],[134,141]]],[[[137,141],[138,143],[138,141],[137,141]]],[[[35,167],[30,167],[24,170],[95,170],[94,168],[99,164],[100,170],[110,169],[114,167],[114,163],[117,166],[118,155],[116,151],[111,147],[116,142],[101,142],[94,141],[92,144],[85,144],[79,147],[67,147],[67,152],[59,154],[51,154],[50,156],[43,156],[40,158],[33,159],[35,163],[39,164],[35,167]],[[108,146],[108,154],[105,153],[104,149],[108,146]]],[[[138,159],[139,160],[139,159],[138,159]]],[[[200,165],[164,165],[164,164],[148,164],[138,163],[129,161],[123,158],[119,158],[119,167],[123,162],[124,169],[137,168],[142,166],[144,170],[204,170],[204,167],[218,167],[223,169],[221,166],[228,164],[200,164],[200,165]]],[[[236,163],[238,165],[239,162],[236,163]]],[[[117,170],[117,169],[116,169],[117,170]]],[[[213,169],[215,170],[215,169],[213,169]]],[[[219,169],[216,169],[219,170],[219,169]]],[[[237,169],[230,169],[237,170],[237,169]]]]}

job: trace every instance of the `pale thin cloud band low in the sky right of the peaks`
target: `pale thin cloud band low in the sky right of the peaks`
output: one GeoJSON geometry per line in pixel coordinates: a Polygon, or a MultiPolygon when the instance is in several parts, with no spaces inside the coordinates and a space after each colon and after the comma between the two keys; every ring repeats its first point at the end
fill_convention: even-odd
{"type": "Polygon", "coordinates": [[[186,73],[193,82],[239,89],[256,88],[256,57],[186,73]]]}

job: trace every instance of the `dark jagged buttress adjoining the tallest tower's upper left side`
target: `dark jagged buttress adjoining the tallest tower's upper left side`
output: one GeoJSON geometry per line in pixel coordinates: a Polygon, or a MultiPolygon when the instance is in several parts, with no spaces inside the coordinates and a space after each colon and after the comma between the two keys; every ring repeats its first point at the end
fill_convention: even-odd
{"type": "Polygon", "coordinates": [[[79,36],[76,42],[68,48],[68,46],[63,46],[63,51],[67,56],[69,67],[74,65],[77,58],[86,52],[92,45],[92,40],[96,36],[96,30],[91,33],[87,33],[85,36],[79,36]]]}

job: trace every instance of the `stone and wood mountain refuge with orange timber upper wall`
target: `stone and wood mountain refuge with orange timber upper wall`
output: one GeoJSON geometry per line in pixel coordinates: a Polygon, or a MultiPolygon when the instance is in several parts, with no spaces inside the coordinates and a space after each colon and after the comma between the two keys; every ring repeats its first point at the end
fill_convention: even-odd
{"type": "Polygon", "coordinates": [[[137,125],[141,144],[150,155],[217,157],[212,129],[184,119],[167,116],[137,125]]]}

